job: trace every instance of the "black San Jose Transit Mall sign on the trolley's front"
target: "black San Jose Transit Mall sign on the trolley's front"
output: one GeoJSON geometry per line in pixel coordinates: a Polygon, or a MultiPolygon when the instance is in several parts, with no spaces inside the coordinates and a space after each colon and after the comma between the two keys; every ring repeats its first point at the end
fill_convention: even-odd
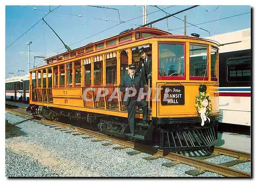
{"type": "Polygon", "coordinates": [[[162,105],[184,105],[185,92],[184,86],[162,86],[161,104],[162,105]]]}

